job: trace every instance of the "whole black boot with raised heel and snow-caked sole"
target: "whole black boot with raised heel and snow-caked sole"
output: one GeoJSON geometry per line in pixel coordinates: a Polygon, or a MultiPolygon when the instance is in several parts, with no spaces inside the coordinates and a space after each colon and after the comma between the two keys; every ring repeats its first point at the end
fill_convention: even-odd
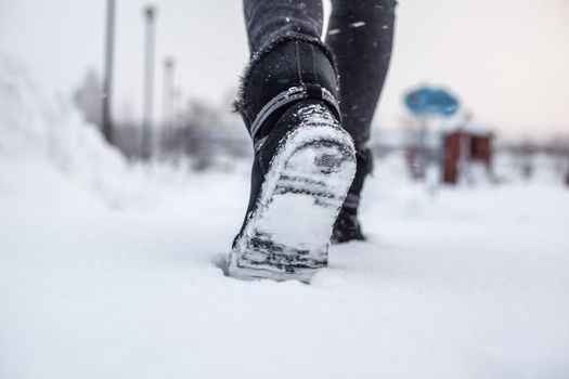
{"type": "Polygon", "coordinates": [[[251,134],[251,193],[230,276],[309,282],[327,265],[332,227],[355,172],[331,58],[302,40],[272,47],[245,76],[238,108],[251,134]]]}

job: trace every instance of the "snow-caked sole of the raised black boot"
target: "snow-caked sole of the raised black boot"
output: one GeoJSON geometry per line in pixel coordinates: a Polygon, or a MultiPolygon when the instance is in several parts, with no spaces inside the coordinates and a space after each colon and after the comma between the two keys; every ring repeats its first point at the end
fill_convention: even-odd
{"type": "Polygon", "coordinates": [[[310,282],[327,265],[332,227],[354,173],[353,143],[338,126],[289,132],[230,253],[229,275],[310,282]]]}

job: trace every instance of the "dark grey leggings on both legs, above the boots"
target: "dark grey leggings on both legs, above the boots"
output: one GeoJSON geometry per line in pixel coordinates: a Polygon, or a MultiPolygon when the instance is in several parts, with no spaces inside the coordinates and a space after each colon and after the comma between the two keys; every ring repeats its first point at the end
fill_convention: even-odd
{"type": "MultiPolygon", "coordinates": [[[[357,147],[370,140],[393,39],[396,0],[333,0],[325,43],[336,56],[342,127],[357,147]]],[[[251,57],[287,35],[322,36],[321,0],[244,0],[251,57]]]]}

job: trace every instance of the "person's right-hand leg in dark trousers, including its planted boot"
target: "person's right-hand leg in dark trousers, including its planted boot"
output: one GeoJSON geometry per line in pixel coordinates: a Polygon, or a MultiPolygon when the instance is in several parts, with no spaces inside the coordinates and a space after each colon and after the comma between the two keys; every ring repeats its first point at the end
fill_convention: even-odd
{"type": "Polygon", "coordinates": [[[326,43],[339,71],[342,127],[357,149],[358,169],[333,239],[364,239],[357,219],[360,192],[372,171],[372,118],[387,75],[393,40],[396,0],[332,0],[326,43]]]}

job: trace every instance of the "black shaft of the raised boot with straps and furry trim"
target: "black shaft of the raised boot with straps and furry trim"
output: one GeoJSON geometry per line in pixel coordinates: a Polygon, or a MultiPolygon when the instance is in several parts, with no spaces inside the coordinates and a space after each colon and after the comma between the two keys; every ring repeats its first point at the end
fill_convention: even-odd
{"type": "Polygon", "coordinates": [[[294,104],[322,101],[340,119],[338,78],[325,45],[284,39],[259,52],[246,69],[236,107],[254,143],[294,104]]]}

